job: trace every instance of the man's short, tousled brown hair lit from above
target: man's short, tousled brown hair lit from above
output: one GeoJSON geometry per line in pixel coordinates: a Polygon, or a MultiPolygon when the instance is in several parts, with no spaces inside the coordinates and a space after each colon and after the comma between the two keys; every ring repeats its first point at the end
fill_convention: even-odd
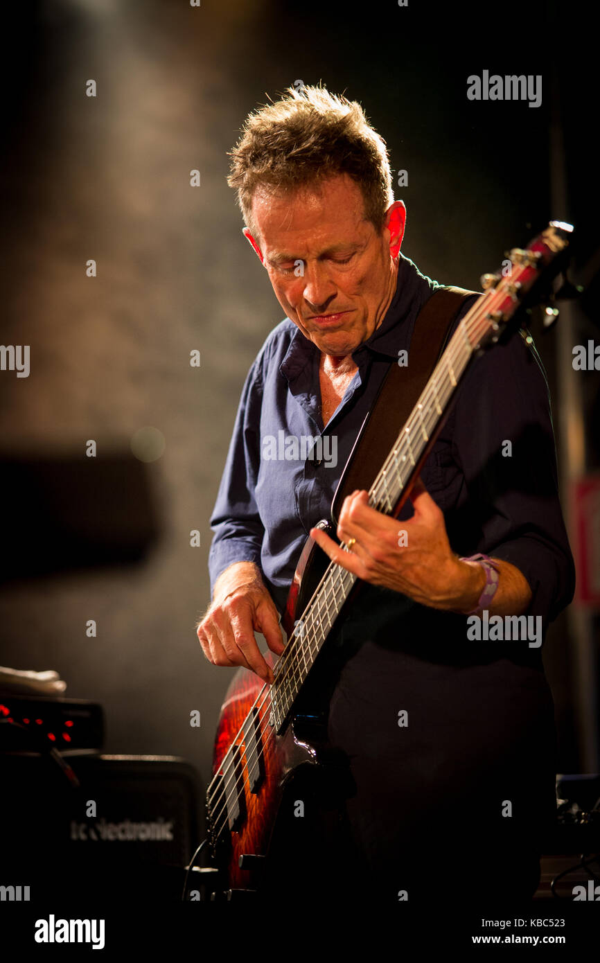
{"type": "Polygon", "coordinates": [[[233,150],[227,177],[252,236],[252,198],[260,185],[275,193],[318,186],[346,173],[364,198],[365,219],[380,233],[394,202],[385,141],[362,107],[322,86],[288,87],[285,96],[249,114],[233,150]]]}

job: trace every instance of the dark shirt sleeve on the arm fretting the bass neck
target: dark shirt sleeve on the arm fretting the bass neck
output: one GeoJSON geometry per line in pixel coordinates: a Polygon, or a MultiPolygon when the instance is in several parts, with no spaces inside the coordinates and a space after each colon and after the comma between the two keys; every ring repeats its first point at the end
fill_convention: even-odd
{"type": "Polygon", "coordinates": [[[575,566],[558,490],[546,374],[528,331],[473,362],[455,409],[454,456],[480,535],[473,553],[509,561],[527,579],[545,630],[573,597],[575,566]]]}

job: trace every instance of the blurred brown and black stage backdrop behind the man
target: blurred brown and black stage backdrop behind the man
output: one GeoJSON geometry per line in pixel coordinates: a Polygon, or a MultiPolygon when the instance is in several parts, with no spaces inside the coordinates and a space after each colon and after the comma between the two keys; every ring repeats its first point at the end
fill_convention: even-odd
{"type": "MultiPolygon", "coordinates": [[[[65,695],[100,702],[106,751],[183,756],[206,781],[231,677],[195,634],[208,519],[248,367],[282,317],[242,236],[226,151],[257,104],[322,80],[363,104],[395,180],[407,171],[395,191],[403,251],[424,273],[479,288],[550,218],[576,224],[587,293],[571,309],[572,344],[583,343],[598,337],[595,35],[583,7],[532,0],[62,0],[11,4],[3,23],[2,342],[31,346],[31,373],[0,373],[0,662],[57,669],[65,695]],[[467,100],[467,76],[483,69],[541,74],[541,106],[467,100]],[[146,432],[147,457],[162,439],[164,452],[140,462],[130,443],[147,427],[160,432],[146,432]],[[38,485],[11,467],[27,459],[38,485]],[[95,555],[65,532],[75,516],[95,555]]],[[[564,480],[562,419],[585,428],[598,467],[598,374],[579,373],[584,407],[565,411],[571,346],[556,331],[535,341],[564,480]]],[[[565,772],[598,767],[594,617],[582,629],[561,616],[545,648],[565,772]]]]}

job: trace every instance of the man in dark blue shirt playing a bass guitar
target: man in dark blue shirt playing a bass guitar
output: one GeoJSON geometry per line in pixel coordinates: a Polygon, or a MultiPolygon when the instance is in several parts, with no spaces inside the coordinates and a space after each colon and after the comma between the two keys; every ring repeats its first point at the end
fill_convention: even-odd
{"type": "Polygon", "coordinates": [[[336,632],[327,721],[352,771],[361,888],[382,903],[531,898],[556,811],[541,645],[574,590],[535,347],[515,334],[474,362],[399,518],[364,490],[345,500],[344,551],[315,526],[439,285],[401,253],[404,203],[355,102],[290,88],[248,117],[229,184],[286,317],[248,373],[211,519],[204,655],[273,681],[254,632],[284,651],[279,614],[311,534],[364,583],[336,632]],[[522,614],[526,638],[485,632],[522,614]]]}

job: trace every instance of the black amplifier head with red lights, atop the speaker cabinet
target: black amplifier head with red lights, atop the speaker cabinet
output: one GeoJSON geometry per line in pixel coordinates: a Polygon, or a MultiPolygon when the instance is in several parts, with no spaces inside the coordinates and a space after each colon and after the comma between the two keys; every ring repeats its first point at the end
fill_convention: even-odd
{"type": "Polygon", "coordinates": [[[101,749],[102,707],[86,699],[0,692],[0,752],[101,749]]]}

